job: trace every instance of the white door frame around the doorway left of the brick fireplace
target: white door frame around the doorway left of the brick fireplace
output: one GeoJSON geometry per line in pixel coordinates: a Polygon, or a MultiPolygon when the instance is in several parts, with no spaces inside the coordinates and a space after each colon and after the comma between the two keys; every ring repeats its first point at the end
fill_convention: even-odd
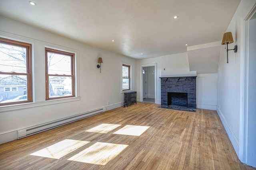
{"type": "Polygon", "coordinates": [[[157,68],[156,68],[156,63],[151,63],[151,64],[141,64],[140,65],[140,102],[143,102],[143,74],[142,74],[142,69],[143,67],[150,67],[150,66],[154,66],[155,67],[155,78],[154,78],[154,82],[155,82],[155,103],[156,103],[156,91],[157,91],[157,87],[156,87],[156,80],[157,80],[157,68]]]}

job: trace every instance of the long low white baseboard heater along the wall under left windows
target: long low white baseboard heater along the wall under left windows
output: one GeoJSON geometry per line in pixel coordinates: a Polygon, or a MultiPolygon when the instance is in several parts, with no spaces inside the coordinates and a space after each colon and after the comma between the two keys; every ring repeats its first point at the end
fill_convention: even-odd
{"type": "Polygon", "coordinates": [[[20,129],[20,130],[18,130],[18,139],[22,139],[24,137],[28,137],[28,136],[34,135],[36,133],[47,131],[47,130],[53,129],[55,127],[66,125],[68,123],[72,123],[74,121],[78,121],[78,120],[84,119],[86,117],[97,115],[97,114],[103,113],[105,111],[106,111],[106,107],[102,107],[100,109],[96,109],[96,110],[88,111],[86,113],[81,113],[78,115],[66,117],[64,119],[58,119],[56,121],[51,121],[48,123],[28,127],[25,129],[20,129]]]}

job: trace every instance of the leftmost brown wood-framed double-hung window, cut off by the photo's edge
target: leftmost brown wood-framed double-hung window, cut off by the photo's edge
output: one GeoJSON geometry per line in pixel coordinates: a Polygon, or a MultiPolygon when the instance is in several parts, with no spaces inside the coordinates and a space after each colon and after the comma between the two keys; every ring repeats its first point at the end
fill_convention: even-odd
{"type": "Polygon", "coordinates": [[[0,37],[0,106],[32,102],[31,48],[0,37]]]}

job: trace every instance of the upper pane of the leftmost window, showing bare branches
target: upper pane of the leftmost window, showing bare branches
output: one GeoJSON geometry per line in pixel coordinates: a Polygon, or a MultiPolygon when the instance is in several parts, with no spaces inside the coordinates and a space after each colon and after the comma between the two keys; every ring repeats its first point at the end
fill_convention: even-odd
{"type": "Polygon", "coordinates": [[[0,71],[26,73],[26,48],[0,43],[0,71]]]}

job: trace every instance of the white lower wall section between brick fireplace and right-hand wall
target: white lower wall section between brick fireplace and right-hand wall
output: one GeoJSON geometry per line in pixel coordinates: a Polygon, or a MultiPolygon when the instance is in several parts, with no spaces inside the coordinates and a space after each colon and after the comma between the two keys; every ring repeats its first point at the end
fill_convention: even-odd
{"type": "Polygon", "coordinates": [[[216,110],[218,74],[197,74],[197,108],[216,110]]]}

